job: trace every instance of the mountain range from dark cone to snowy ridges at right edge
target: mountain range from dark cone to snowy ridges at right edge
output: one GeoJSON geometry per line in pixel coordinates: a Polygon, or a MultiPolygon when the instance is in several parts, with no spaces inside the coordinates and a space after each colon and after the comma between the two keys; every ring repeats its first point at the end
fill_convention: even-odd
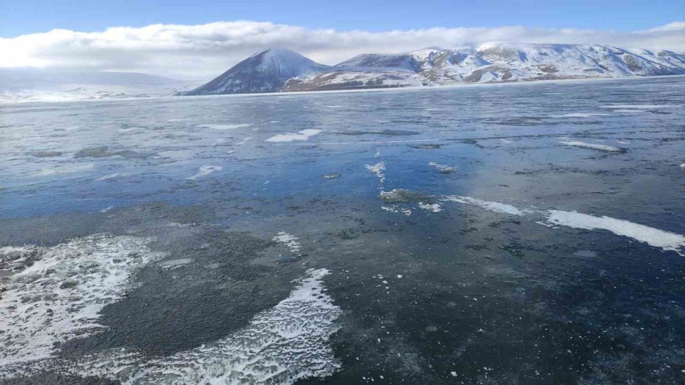
{"type": "Polygon", "coordinates": [[[269,49],[186,95],[653,75],[685,75],[685,54],[597,44],[492,43],[363,54],[325,66],[290,50],[269,49]]]}

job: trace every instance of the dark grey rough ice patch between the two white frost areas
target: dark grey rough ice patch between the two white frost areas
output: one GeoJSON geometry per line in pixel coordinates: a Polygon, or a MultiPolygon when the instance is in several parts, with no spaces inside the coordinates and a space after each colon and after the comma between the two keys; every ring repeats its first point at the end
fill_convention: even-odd
{"type": "Polygon", "coordinates": [[[99,323],[108,329],[65,343],[62,353],[132,347],[167,356],[216,341],[287,297],[289,282],[301,273],[296,266],[292,275],[275,274],[275,267],[253,263],[273,241],[219,229],[187,231],[181,242],[171,240],[173,247],[160,250],[169,252],[164,261],[192,263],[182,271],[162,268],[164,261],[142,269],[136,289],[101,311],[99,323]]]}

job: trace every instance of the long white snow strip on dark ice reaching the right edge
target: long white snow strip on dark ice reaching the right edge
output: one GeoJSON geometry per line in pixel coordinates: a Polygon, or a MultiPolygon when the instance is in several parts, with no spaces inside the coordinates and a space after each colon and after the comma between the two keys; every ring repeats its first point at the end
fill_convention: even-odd
{"type": "Polygon", "coordinates": [[[662,250],[672,250],[685,256],[685,237],[642,224],[617,220],[612,217],[577,213],[575,211],[550,210],[547,220],[552,224],[586,230],[608,230],[616,235],[629,237],[662,250]]]}

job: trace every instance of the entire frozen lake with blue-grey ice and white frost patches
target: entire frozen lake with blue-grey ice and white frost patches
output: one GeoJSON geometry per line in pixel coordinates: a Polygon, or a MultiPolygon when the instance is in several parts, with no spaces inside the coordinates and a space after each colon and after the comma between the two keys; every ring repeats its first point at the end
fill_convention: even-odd
{"type": "Polygon", "coordinates": [[[0,105],[0,380],[685,382],[684,90],[0,105]]]}

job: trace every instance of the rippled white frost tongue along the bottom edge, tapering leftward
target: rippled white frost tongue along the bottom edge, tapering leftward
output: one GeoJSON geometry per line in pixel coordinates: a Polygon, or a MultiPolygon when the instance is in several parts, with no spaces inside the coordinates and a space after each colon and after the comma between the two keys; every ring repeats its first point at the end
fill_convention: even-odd
{"type": "Polygon", "coordinates": [[[285,300],[214,343],[167,357],[112,349],[81,358],[43,360],[28,369],[0,368],[0,379],[41,370],[124,384],[292,384],[307,377],[327,377],[340,369],[329,338],[338,331],[336,319],[342,314],[325,293],[327,274],[327,269],[309,269],[285,300]]]}

